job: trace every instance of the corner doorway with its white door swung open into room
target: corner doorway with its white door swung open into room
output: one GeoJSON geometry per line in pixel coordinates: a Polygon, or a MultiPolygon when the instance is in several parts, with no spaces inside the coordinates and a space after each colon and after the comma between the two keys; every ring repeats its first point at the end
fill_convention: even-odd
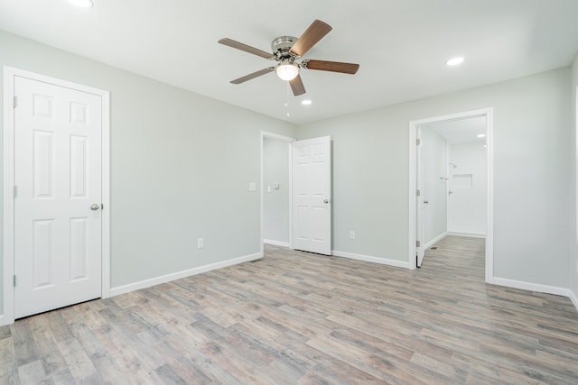
{"type": "Polygon", "coordinates": [[[331,137],[261,132],[261,254],[265,243],[331,255],[331,137]]]}

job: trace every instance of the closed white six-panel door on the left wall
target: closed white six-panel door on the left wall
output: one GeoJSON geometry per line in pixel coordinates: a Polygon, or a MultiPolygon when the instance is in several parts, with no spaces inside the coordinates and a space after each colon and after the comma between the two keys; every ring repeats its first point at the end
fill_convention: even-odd
{"type": "Polygon", "coordinates": [[[101,296],[101,97],[15,77],[14,316],[101,296]]]}

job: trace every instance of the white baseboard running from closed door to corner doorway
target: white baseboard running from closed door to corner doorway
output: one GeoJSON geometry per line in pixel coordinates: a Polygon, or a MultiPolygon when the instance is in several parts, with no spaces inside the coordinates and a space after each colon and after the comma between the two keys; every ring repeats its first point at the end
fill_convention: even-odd
{"type": "Polygon", "coordinates": [[[248,261],[255,261],[260,258],[263,258],[263,254],[257,252],[256,254],[246,255],[244,257],[233,258],[232,260],[210,263],[209,265],[200,266],[198,268],[189,269],[189,270],[182,270],[173,272],[171,274],[162,275],[160,277],[155,277],[149,280],[141,280],[135,283],[129,283],[123,286],[117,286],[116,288],[110,289],[110,297],[117,296],[119,294],[128,293],[130,291],[135,291],[138,289],[145,289],[150,288],[154,285],[160,285],[161,283],[170,282],[172,280],[179,280],[185,277],[189,277],[191,275],[200,274],[203,272],[207,272],[210,270],[217,270],[226,268],[228,266],[237,265],[239,263],[248,262],[248,261]]]}

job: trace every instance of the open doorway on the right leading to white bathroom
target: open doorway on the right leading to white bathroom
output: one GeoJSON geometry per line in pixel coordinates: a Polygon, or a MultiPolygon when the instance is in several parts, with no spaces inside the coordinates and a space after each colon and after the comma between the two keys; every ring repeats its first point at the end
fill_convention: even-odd
{"type": "Polygon", "coordinates": [[[448,234],[485,238],[493,275],[492,110],[410,122],[409,263],[448,234]]]}

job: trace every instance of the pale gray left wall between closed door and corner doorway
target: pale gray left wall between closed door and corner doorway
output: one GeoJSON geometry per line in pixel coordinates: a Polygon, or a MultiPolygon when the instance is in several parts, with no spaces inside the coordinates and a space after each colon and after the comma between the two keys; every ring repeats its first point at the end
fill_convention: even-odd
{"type": "Polygon", "coordinates": [[[110,91],[113,288],[260,252],[260,132],[292,124],[5,32],[0,65],[110,91]]]}

